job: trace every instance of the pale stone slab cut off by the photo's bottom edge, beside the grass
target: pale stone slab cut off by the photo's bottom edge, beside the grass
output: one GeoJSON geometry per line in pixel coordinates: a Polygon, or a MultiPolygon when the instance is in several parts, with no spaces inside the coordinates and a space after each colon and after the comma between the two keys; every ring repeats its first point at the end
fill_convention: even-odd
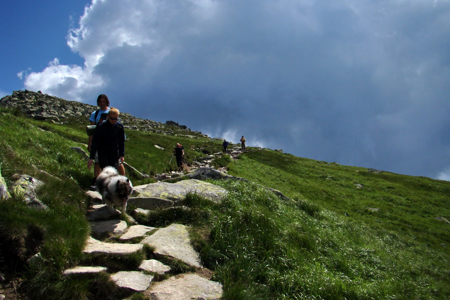
{"type": "Polygon", "coordinates": [[[170,277],[152,285],[148,291],[152,300],[218,300],[223,293],[222,284],[195,274],[170,277]]]}

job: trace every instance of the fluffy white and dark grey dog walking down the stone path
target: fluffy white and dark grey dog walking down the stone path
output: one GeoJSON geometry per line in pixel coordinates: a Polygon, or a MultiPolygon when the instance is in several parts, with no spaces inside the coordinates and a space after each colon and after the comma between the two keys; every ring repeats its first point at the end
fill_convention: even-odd
{"type": "Polygon", "coordinates": [[[133,185],[125,176],[119,175],[112,166],[103,168],[95,180],[97,191],[101,194],[102,202],[109,207],[112,213],[116,207],[122,207],[122,213],[126,211],[126,202],[128,201],[133,185]]]}

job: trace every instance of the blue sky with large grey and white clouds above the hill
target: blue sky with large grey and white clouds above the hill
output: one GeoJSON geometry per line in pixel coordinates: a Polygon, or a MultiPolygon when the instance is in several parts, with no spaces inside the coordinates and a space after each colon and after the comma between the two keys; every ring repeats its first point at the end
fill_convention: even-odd
{"type": "Polygon", "coordinates": [[[1,0],[0,96],[450,180],[450,0],[1,0]]]}

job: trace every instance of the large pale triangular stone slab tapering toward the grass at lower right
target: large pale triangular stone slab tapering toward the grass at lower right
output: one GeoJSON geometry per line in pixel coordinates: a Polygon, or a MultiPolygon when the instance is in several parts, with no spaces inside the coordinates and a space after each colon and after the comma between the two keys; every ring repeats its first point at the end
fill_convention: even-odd
{"type": "Polygon", "coordinates": [[[200,257],[190,244],[187,228],[181,224],[170,224],[145,237],[140,243],[153,247],[156,255],[170,256],[188,265],[201,267],[200,257]]]}

